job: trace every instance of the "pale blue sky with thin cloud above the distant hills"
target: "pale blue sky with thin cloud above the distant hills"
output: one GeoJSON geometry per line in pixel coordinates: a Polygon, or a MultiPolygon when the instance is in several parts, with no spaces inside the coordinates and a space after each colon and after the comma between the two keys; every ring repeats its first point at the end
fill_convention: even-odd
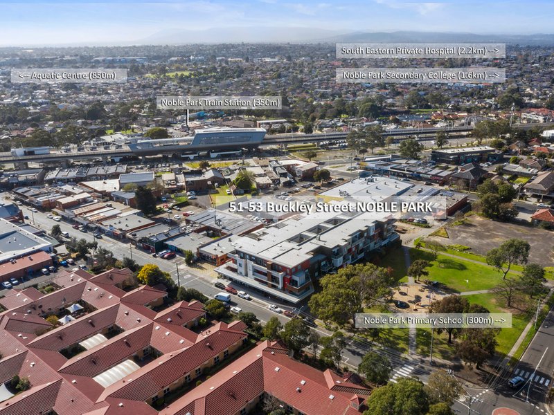
{"type": "Polygon", "coordinates": [[[554,1],[0,0],[0,16],[0,46],[148,44],[164,30],[205,29],[220,30],[224,42],[225,28],[264,26],[529,35],[553,33],[554,1]]]}

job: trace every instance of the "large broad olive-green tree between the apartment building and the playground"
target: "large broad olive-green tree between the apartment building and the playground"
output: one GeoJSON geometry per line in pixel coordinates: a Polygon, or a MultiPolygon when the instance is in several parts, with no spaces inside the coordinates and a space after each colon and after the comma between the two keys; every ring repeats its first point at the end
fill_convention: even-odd
{"type": "Polygon", "coordinates": [[[310,297],[310,310],[325,322],[343,326],[378,301],[391,297],[393,277],[373,264],[348,265],[320,280],[321,291],[310,297]]]}

